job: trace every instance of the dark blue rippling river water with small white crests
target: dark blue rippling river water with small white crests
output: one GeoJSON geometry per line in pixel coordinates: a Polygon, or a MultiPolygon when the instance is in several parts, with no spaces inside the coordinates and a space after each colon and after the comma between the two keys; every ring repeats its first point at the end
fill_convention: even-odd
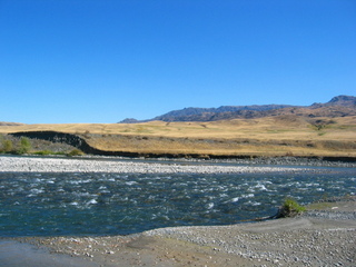
{"type": "MultiPolygon", "coordinates": [[[[310,167],[308,167],[310,168],[310,167]]],[[[313,168],[310,168],[313,169],[313,168]]],[[[354,168],[295,174],[0,174],[0,236],[126,235],[271,216],[356,194],[354,168]]]]}

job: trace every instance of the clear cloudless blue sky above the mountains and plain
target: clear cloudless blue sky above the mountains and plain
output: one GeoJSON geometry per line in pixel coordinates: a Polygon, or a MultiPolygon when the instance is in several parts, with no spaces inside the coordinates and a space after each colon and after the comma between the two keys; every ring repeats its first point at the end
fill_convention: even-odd
{"type": "Polygon", "coordinates": [[[355,0],[0,0],[0,121],[356,95],[355,0]]]}

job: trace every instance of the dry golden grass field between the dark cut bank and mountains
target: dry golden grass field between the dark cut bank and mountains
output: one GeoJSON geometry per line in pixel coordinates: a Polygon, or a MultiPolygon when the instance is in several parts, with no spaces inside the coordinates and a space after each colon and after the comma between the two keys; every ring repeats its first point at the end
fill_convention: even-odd
{"type": "Polygon", "coordinates": [[[0,134],[76,134],[95,148],[142,154],[356,157],[356,117],[274,116],[211,122],[0,126],[0,134]]]}

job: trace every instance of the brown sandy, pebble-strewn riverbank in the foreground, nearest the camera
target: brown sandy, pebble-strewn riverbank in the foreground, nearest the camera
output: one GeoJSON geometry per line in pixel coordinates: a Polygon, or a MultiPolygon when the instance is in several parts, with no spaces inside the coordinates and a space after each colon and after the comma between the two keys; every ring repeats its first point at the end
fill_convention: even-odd
{"type": "Polygon", "coordinates": [[[32,244],[67,257],[58,266],[354,266],[356,198],[325,205],[296,218],[254,224],[14,240],[18,249],[32,244]]]}

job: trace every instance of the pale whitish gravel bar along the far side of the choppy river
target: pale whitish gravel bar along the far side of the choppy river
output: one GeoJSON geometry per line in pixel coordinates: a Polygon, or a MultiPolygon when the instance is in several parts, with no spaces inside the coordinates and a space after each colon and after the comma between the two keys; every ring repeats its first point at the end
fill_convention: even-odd
{"type": "Polygon", "coordinates": [[[308,168],[181,165],[128,160],[66,159],[36,157],[0,157],[1,172],[118,172],[118,174],[241,174],[241,172],[300,172],[308,168]]]}

